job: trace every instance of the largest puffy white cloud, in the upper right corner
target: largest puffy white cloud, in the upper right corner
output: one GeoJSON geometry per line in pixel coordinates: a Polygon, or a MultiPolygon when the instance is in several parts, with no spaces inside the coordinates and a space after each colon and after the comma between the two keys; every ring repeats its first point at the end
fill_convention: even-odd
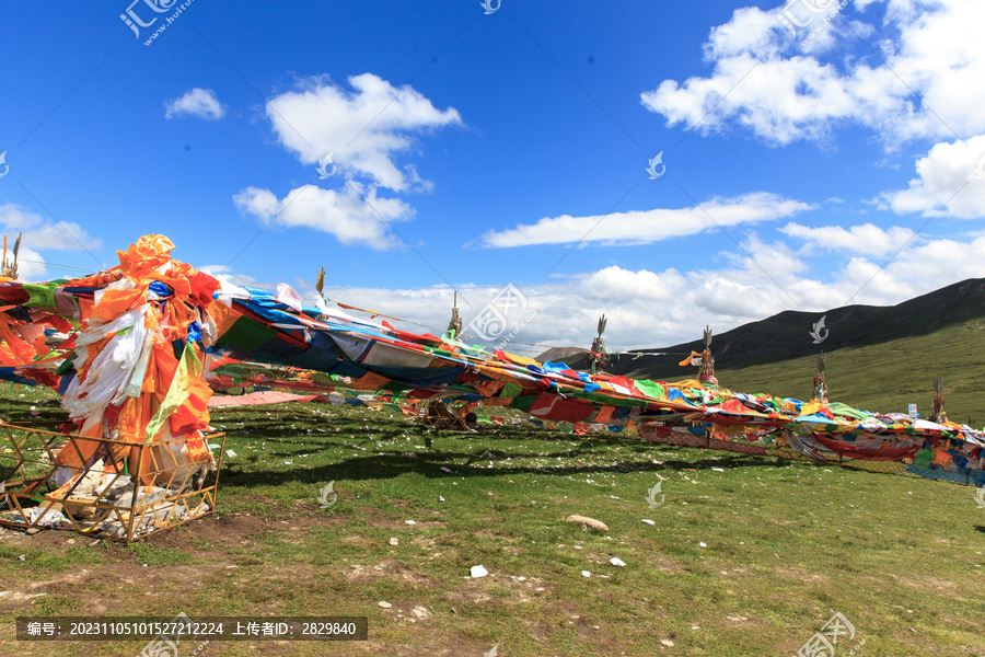
{"type": "MultiPolygon", "coordinates": [[[[856,2],[856,9],[866,4],[856,2]]],[[[920,137],[951,138],[952,130],[985,131],[985,87],[978,83],[985,78],[985,3],[888,0],[885,8],[880,34],[869,37],[871,25],[844,15],[846,7],[831,25],[845,19],[851,30],[831,30],[799,53],[813,23],[795,41],[778,20],[783,8],[739,9],[711,30],[705,45],[709,77],[664,80],[641,94],[642,104],[670,126],[710,131],[735,120],[774,145],[822,140],[847,122],[873,129],[889,148],[920,137]],[[870,43],[882,37],[876,47],[888,66],[869,56],[856,33],[870,43]],[[853,57],[856,48],[862,58],[853,57]],[[822,61],[827,51],[831,61],[822,61]]]]}

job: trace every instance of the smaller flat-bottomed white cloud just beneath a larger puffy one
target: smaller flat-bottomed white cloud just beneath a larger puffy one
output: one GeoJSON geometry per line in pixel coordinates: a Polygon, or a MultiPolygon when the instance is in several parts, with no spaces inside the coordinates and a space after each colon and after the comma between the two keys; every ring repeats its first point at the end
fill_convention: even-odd
{"type": "Polygon", "coordinates": [[[349,182],[339,191],[303,185],[278,199],[269,189],[247,187],[233,196],[241,212],[263,223],[276,218],[287,227],[305,227],[336,237],[347,245],[376,250],[392,249],[397,242],[386,223],[414,216],[414,209],[397,198],[380,198],[375,187],[364,188],[349,182]]]}

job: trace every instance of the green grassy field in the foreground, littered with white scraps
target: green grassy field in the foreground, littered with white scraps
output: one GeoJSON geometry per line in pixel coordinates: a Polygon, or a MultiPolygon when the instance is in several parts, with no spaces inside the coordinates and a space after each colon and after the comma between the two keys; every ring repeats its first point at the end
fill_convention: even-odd
{"type": "MultiPolygon", "coordinates": [[[[31,405],[60,416],[46,393],[4,395],[8,420],[31,405]]],[[[128,548],[0,530],[0,654],[146,645],[18,642],[19,615],[184,611],[369,618],[367,642],[212,642],[207,657],[792,655],[835,612],[855,627],[838,657],[985,655],[985,509],[969,487],[635,435],[427,430],[327,404],[212,425],[236,452],[218,517],[128,548]],[[479,564],[489,575],[473,579],[479,564]]]]}

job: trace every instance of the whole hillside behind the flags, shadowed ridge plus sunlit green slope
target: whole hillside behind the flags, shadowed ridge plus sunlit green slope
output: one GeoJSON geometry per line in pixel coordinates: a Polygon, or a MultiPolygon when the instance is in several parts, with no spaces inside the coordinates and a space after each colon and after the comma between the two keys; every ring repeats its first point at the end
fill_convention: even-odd
{"type": "MultiPolygon", "coordinates": [[[[849,306],[826,313],[783,312],[744,324],[711,343],[722,385],[742,392],[770,392],[809,399],[819,350],[827,356],[831,399],[868,411],[906,412],[916,403],[926,416],[931,379],[945,379],[945,402],[953,420],[985,424],[985,279],[970,279],[893,307],[849,306]],[[826,339],[809,332],[826,316],[826,339]]],[[[822,332],[823,334],[823,332],[822,332]]],[[[614,356],[606,371],[640,379],[674,381],[695,367],[677,362],[699,341],[646,349],[668,356],[614,356]]],[[[560,351],[544,356],[560,356],[560,351]]],[[[568,356],[576,368],[581,358],[568,356]]]]}

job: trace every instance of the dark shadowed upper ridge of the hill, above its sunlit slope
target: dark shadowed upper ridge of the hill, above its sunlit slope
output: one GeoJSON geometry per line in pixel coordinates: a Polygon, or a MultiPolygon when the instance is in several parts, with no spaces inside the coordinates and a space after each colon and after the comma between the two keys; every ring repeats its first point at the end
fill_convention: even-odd
{"type": "MultiPolygon", "coordinates": [[[[785,311],[715,335],[711,353],[717,371],[735,370],[814,356],[822,349],[828,353],[926,336],[978,319],[985,319],[985,279],[972,278],[896,306],[846,306],[826,312],[785,311]],[[816,335],[824,339],[815,343],[811,332],[822,319],[824,327],[819,326],[816,335]]],[[[691,378],[697,368],[677,364],[692,350],[702,348],[702,341],[696,339],[670,347],[638,349],[662,351],[667,356],[634,356],[634,351],[614,355],[605,371],[637,379],[691,378]]],[[[941,344],[940,348],[950,345],[941,344]]],[[[564,360],[575,369],[588,368],[584,349],[556,347],[537,359],[564,360]]]]}

